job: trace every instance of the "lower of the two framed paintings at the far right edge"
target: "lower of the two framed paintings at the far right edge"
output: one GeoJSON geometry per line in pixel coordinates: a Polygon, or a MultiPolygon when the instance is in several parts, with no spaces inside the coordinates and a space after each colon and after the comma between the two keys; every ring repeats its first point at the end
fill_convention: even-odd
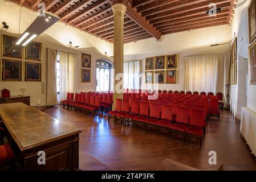
{"type": "Polygon", "coordinates": [[[256,84],[256,41],[249,47],[250,84],[256,84]]]}

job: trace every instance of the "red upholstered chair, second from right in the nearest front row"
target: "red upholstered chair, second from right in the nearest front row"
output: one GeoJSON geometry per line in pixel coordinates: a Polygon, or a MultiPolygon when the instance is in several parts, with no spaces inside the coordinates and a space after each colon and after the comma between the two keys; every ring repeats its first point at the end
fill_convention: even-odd
{"type": "Polygon", "coordinates": [[[170,126],[170,137],[172,138],[172,131],[182,133],[185,142],[185,130],[189,125],[189,109],[186,107],[178,107],[176,123],[170,126]]]}

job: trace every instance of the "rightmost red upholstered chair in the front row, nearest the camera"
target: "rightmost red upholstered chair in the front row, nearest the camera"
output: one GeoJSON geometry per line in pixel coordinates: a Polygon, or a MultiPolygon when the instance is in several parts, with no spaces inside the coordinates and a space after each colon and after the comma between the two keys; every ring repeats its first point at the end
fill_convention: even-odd
{"type": "Polygon", "coordinates": [[[201,138],[200,148],[202,147],[202,138],[204,135],[204,110],[192,109],[190,126],[185,129],[186,134],[195,135],[201,138]]]}

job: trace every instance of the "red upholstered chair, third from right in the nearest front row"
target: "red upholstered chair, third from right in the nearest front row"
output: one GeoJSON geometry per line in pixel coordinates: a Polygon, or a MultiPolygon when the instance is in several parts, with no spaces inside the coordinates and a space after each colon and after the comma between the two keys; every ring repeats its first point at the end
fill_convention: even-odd
{"type": "Polygon", "coordinates": [[[172,125],[172,106],[162,105],[161,109],[161,120],[156,123],[157,128],[159,127],[169,129],[170,134],[170,125],[172,125]]]}

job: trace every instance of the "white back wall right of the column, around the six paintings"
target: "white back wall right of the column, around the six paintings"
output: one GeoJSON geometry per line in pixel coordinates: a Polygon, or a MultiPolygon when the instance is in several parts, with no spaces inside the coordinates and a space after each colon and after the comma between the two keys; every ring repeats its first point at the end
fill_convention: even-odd
{"type": "MultiPolygon", "coordinates": [[[[230,26],[224,25],[165,35],[162,36],[162,40],[159,42],[157,42],[155,38],[152,38],[141,40],[137,43],[128,43],[124,45],[124,60],[143,60],[144,72],[145,57],[177,54],[177,84],[160,84],[159,89],[184,90],[185,73],[183,57],[230,52],[230,44],[210,47],[212,44],[229,42],[231,39],[230,31],[230,26]]],[[[145,86],[145,84],[143,86],[145,86]]]]}

